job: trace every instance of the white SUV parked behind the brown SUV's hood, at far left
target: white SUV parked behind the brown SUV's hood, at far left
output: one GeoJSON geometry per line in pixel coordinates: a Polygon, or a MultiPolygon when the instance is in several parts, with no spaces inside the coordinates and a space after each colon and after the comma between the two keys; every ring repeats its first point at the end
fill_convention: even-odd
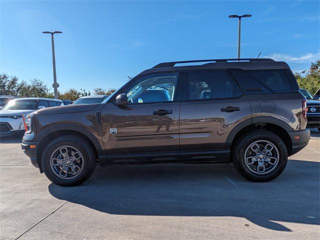
{"type": "Polygon", "coordinates": [[[61,100],[52,98],[24,97],[10,100],[0,110],[0,136],[24,133],[28,113],[60,105],[63,105],[61,100]]]}

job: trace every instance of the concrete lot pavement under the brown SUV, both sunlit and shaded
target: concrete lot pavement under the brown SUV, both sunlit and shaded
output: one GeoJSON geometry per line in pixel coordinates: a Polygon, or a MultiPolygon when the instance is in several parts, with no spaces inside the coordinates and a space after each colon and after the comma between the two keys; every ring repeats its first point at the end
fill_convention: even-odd
{"type": "Polygon", "coordinates": [[[249,182],[232,165],[96,168],[76,187],[50,183],[0,140],[1,239],[316,239],[320,137],[275,180],[249,182]]]}

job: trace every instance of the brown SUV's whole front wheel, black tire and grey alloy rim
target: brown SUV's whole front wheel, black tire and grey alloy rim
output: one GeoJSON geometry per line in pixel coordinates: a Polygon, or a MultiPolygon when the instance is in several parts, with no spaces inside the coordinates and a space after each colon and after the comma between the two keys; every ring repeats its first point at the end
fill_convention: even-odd
{"type": "Polygon", "coordinates": [[[96,154],[81,137],[63,135],[53,139],[42,154],[42,168],[49,180],[60,186],[74,186],[89,178],[96,154]]]}

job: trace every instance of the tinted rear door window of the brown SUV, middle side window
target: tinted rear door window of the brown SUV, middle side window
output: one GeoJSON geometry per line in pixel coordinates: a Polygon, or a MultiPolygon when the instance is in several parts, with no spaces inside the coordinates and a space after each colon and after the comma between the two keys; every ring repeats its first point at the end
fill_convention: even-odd
{"type": "Polygon", "coordinates": [[[189,72],[189,99],[230,98],[242,95],[224,70],[189,72]]]}

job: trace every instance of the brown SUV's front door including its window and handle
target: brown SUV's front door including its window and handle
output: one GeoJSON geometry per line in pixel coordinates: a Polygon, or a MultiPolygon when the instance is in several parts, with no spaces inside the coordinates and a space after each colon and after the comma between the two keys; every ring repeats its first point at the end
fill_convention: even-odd
{"type": "Polygon", "coordinates": [[[124,90],[129,104],[105,104],[101,127],[108,163],[179,159],[177,83],[177,72],[149,74],[124,90]]]}

